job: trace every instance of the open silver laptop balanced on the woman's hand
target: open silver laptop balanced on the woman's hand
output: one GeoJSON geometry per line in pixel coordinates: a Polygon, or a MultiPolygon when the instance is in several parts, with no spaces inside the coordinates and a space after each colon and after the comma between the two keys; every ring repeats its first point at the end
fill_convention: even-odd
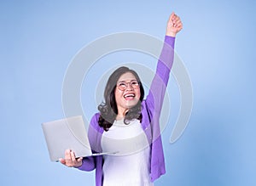
{"type": "Polygon", "coordinates": [[[64,158],[66,149],[72,149],[76,157],[114,155],[117,153],[103,152],[92,154],[82,116],[44,122],[42,123],[42,128],[50,161],[59,161],[60,158],[64,158]]]}

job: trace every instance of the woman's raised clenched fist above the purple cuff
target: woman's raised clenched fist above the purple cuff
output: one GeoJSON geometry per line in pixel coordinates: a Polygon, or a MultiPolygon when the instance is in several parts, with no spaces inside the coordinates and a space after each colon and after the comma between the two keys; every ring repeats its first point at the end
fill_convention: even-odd
{"type": "Polygon", "coordinates": [[[182,21],[177,16],[177,14],[172,12],[167,22],[166,36],[176,37],[177,32],[181,31],[182,29],[183,29],[182,21]]]}

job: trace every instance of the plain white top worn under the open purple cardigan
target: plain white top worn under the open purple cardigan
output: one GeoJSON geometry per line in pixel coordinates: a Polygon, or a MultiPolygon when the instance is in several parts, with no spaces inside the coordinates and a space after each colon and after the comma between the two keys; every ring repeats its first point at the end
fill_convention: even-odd
{"type": "Polygon", "coordinates": [[[102,151],[116,152],[104,155],[103,186],[154,186],[149,178],[149,146],[140,121],[114,121],[108,132],[102,134],[102,151]]]}

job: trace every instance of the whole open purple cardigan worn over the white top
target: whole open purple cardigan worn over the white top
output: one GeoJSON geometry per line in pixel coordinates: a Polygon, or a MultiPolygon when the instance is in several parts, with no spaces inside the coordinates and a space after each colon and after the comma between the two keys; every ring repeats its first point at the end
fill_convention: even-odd
{"type": "MultiPolygon", "coordinates": [[[[165,37],[165,44],[162,48],[160,59],[158,60],[156,73],[151,83],[149,93],[142,103],[142,127],[150,144],[150,178],[154,182],[166,173],[165,158],[163,146],[160,137],[160,110],[166,93],[166,86],[169,80],[170,71],[174,58],[175,37],[165,37]]],[[[88,129],[88,137],[91,149],[95,152],[102,152],[101,140],[103,128],[99,127],[98,119],[100,114],[96,113],[91,118],[88,129]]],[[[83,171],[92,171],[96,169],[96,186],[102,186],[102,166],[103,157],[90,156],[84,157],[82,166],[78,168],[83,171]]]]}

